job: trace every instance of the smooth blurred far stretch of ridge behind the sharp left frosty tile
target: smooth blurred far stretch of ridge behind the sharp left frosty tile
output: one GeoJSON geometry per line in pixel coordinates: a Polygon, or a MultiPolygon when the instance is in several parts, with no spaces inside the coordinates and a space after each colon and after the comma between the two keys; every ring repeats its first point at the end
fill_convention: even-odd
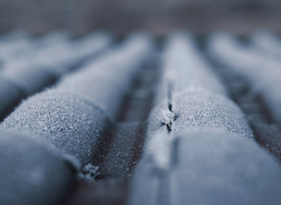
{"type": "Polygon", "coordinates": [[[115,119],[132,77],[152,52],[149,35],[135,34],[119,47],[87,63],[81,71],[62,78],[57,87],[95,101],[115,119]]]}

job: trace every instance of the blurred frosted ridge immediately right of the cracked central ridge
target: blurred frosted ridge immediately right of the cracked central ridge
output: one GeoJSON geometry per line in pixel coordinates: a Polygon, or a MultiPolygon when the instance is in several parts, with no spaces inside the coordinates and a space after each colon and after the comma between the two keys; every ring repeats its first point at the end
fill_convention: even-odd
{"type": "Polygon", "coordinates": [[[213,35],[208,48],[215,61],[249,80],[253,90],[262,94],[275,120],[280,122],[281,95],[278,93],[281,87],[281,61],[261,55],[227,34],[213,35]]]}

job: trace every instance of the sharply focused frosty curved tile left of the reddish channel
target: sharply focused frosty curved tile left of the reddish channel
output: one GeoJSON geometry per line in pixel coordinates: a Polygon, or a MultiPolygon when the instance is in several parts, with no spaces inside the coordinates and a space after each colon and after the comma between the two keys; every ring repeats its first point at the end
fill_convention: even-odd
{"type": "Polygon", "coordinates": [[[0,130],[24,133],[51,144],[80,163],[93,162],[96,144],[111,122],[92,101],[61,90],[47,90],[24,101],[0,124],[0,130]]]}

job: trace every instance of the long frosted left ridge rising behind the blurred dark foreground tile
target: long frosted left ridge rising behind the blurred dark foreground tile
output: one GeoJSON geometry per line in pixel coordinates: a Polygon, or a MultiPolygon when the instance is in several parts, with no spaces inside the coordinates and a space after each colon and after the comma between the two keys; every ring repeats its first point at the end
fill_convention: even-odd
{"type": "Polygon", "coordinates": [[[28,98],[0,129],[51,144],[81,165],[95,164],[98,143],[112,126],[110,118],[119,112],[122,95],[151,47],[148,35],[132,36],[115,51],[63,78],[56,88],[28,98]]]}

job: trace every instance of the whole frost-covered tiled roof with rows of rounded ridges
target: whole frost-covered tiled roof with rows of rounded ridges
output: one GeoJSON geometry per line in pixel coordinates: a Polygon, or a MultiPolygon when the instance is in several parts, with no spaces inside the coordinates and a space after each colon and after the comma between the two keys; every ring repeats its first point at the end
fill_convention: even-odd
{"type": "Polygon", "coordinates": [[[0,204],[278,204],[278,38],[197,37],[0,37],[0,204]]]}

